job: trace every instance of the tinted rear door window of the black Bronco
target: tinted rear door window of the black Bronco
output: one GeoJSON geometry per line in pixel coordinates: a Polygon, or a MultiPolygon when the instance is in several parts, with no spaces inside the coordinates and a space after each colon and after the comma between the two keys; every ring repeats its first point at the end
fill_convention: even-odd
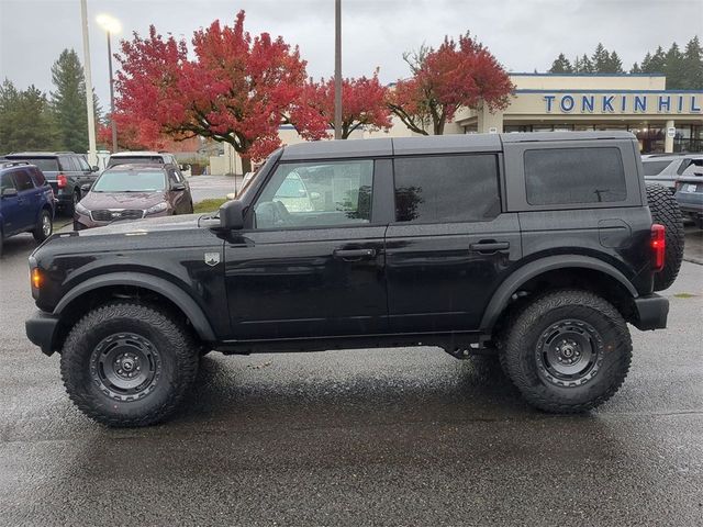
{"type": "Polygon", "coordinates": [[[494,155],[397,158],[394,171],[399,222],[481,222],[500,213],[494,155]]]}

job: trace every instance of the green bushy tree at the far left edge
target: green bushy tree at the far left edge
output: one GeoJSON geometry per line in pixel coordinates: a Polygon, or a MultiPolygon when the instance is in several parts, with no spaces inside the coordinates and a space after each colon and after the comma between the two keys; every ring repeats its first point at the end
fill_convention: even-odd
{"type": "Polygon", "coordinates": [[[53,150],[57,139],[46,96],[34,86],[19,91],[5,79],[0,86],[0,152],[53,150]]]}

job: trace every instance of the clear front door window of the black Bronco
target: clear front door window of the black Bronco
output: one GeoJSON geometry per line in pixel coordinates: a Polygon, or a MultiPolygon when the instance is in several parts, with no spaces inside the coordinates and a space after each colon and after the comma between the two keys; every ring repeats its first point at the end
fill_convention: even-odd
{"type": "Polygon", "coordinates": [[[371,159],[281,164],[254,206],[256,227],[369,223],[372,179],[371,159]]]}

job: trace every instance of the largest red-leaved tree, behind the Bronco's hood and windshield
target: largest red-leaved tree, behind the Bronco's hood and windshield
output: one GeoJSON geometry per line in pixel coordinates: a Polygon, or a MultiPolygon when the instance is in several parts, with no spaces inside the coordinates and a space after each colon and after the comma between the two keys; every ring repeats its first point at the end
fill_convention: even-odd
{"type": "Polygon", "coordinates": [[[244,11],[233,26],[213,22],[196,31],[193,58],[183,40],[164,38],[149,27],[134,33],[116,55],[118,113],[126,115],[143,143],[154,132],[169,137],[196,135],[231,144],[244,171],[280,145],[278,128],[292,124],[304,138],[321,138],[326,123],[300,104],[305,61],[298,47],[268,33],[244,30],[244,11]]]}

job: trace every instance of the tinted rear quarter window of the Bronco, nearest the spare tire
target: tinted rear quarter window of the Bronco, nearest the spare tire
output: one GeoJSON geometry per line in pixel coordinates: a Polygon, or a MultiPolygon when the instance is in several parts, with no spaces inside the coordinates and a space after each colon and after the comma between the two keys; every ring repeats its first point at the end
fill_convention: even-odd
{"type": "Polygon", "coordinates": [[[525,186],[532,205],[625,201],[625,170],[617,148],[549,148],[525,152],[525,186]]]}

